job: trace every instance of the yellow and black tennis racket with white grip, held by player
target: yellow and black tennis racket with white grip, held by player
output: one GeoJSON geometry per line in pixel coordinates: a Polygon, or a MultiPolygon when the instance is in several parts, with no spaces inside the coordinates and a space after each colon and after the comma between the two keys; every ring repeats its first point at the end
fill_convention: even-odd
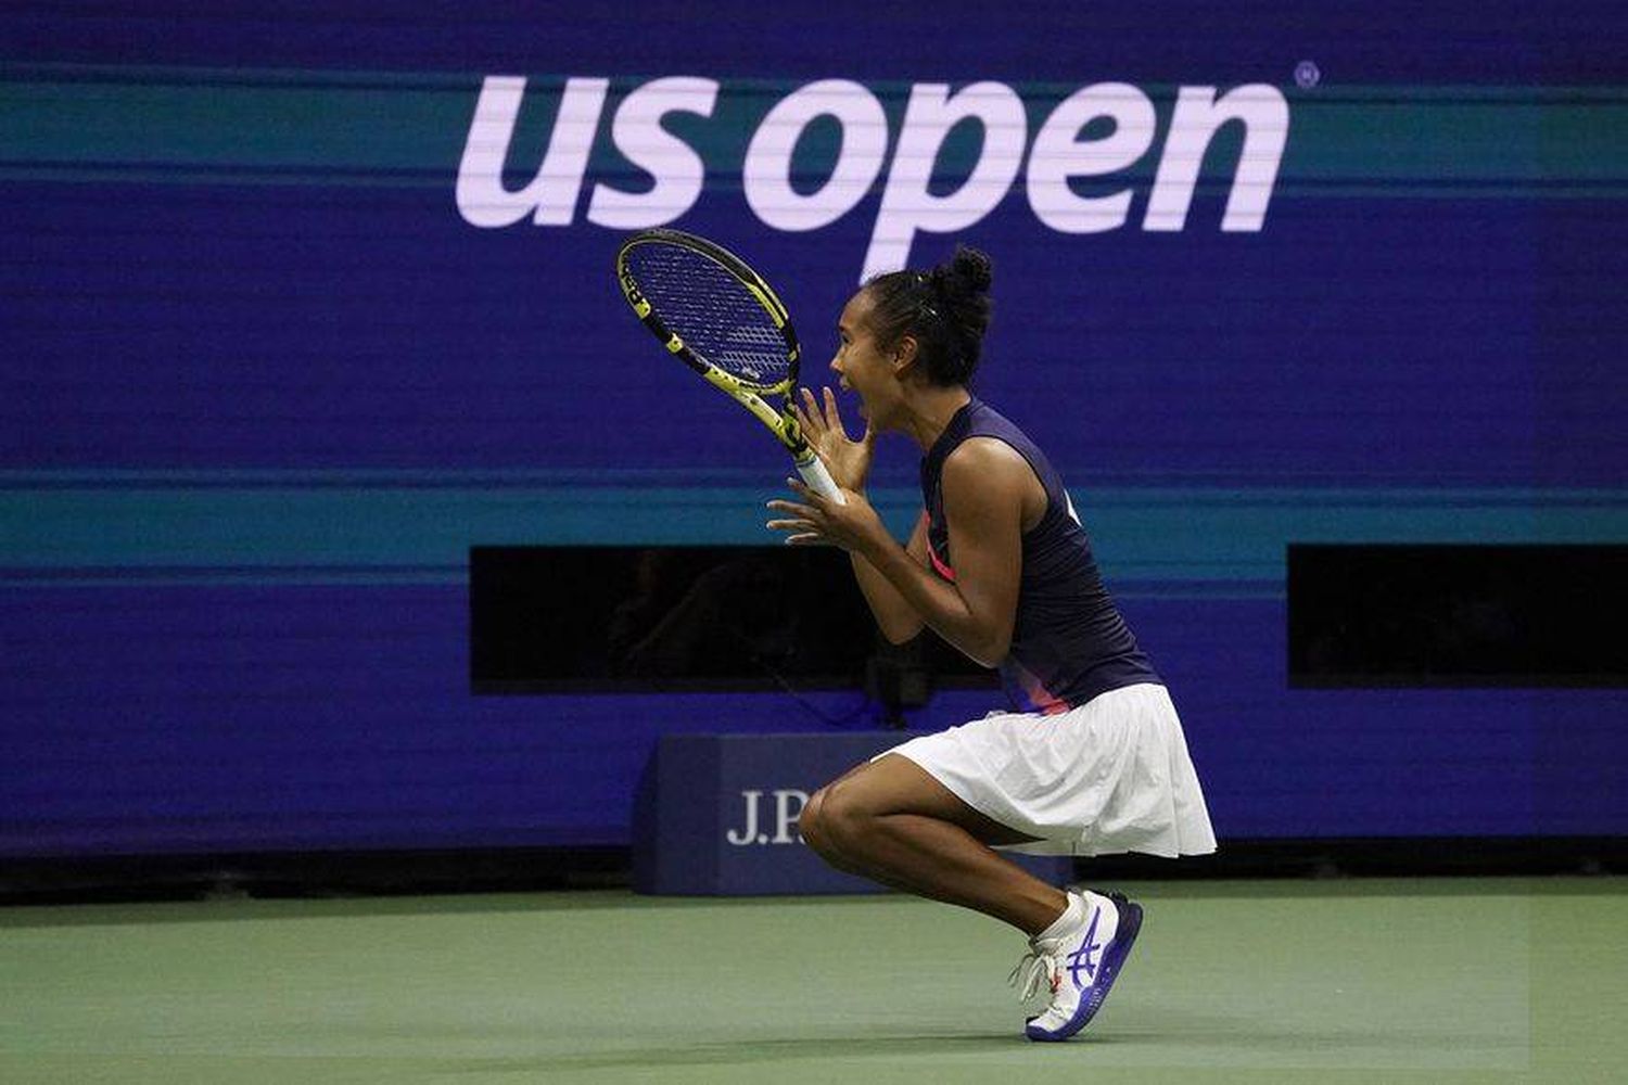
{"type": "Polygon", "coordinates": [[[752,412],[791,452],[803,481],[843,504],[791,410],[798,333],[768,283],[728,249],[681,229],[630,236],[615,254],[615,277],[667,353],[752,412]]]}

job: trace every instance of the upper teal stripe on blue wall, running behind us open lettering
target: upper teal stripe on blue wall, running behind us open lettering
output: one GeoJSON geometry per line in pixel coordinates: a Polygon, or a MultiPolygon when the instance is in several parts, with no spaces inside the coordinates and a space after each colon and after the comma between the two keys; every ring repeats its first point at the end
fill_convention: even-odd
{"type": "MultiPolygon", "coordinates": [[[[650,78],[599,75],[615,75],[617,94],[650,78]]],[[[0,65],[0,176],[448,185],[480,80],[479,72],[0,65]]],[[[562,81],[536,76],[531,109],[547,119],[562,81]]],[[[707,161],[708,184],[737,187],[751,130],[794,88],[793,81],[724,81],[715,122],[687,133],[707,161]]],[[[897,125],[908,86],[874,83],[873,89],[897,125]]],[[[1035,83],[1016,89],[1037,127],[1078,88],[1035,83]]],[[[1144,89],[1161,104],[1175,94],[1164,85],[1144,89]]],[[[1293,127],[1280,176],[1286,195],[1620,198],[1628,182],[1623,86],[1325,85],[1289,94],[1293,127]],[[1431,184],[1411,184],[1421,179],[1431,184]]],[[[524,138],[540,138],[549,122],[536,127],[529,122],[524,138]]],[[[596,172],[620,169],[596,153],[596,172]]],[[[1123,176],[1146,181],[1153,169],[1148,156],[1123,176]]]]}

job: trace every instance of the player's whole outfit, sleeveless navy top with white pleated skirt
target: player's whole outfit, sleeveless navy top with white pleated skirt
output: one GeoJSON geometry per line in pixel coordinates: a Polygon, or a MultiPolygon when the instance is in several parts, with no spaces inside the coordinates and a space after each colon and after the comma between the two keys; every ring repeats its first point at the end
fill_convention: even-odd
{"type": "Polygon", "coordinates": [[[956,579],[941,483],[944,460],[970,438],[1016,449],[1047,496],[1045,514],[1022,537],[1013,641],[1000,662],[1011,711],[912,739],[889,753],[1035,838],[1013,851],[1214,851],[1180,717],[1102,584],[1061,477],[1034,441],[978,399],[951,418],[921,459],[934,573],[956,579]]]}

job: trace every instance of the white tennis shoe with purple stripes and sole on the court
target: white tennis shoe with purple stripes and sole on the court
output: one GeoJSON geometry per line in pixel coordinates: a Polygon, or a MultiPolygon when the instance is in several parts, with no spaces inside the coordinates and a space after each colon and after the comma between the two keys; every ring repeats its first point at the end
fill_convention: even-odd
{"type": "Polygon", "coordinates": [[[1068,1039],[1084,1028],[1102,1009],[1141,930],[1141,904],[1118,893],[1071,890],[1068,898],[1061,932],[1031,939],[1029,952],[1008,978],[1014,986],[1022,984],[1024,1002],[1042,984],[1048,989],[1050,1004],[1024,1028],[1029,1039],[1068,1039]]]}

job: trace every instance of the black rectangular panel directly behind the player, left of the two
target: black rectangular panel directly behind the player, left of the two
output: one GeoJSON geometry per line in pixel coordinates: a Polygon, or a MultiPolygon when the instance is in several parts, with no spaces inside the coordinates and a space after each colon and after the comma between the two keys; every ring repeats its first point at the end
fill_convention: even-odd
{"type": "Polygon", "coordinates": [[[848,558],[794,547],[472,547],[477,693],[861,688],[868,664],[987,675],[881,639],[848,558]]]}

